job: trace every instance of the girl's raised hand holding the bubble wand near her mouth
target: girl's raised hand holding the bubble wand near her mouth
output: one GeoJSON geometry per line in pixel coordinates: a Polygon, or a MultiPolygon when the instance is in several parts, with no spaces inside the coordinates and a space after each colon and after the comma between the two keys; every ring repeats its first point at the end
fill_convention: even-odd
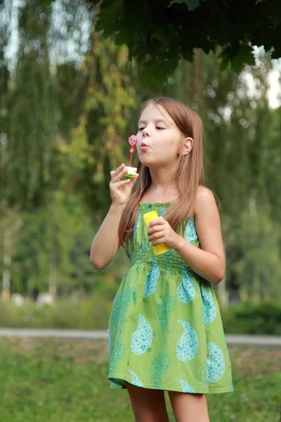
{"type": "Polygon", "coordinates": [[[110,194],[114,205],[126,205],[131,196],[133,185],[138,179],[137,173],[135,177],[121,180],[127,172],[128,169],[124,164],[120,165],[117,170],[110,172],[110,194]]]}

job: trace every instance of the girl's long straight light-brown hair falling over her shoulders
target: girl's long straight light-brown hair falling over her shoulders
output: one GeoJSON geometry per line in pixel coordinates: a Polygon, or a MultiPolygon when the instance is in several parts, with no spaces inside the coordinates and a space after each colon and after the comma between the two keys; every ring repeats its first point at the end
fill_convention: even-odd
{"type": "MultiPolygon", "coordinates": [[[[182,219],[188,217],[188,222],[188,219],[192,216],[198,186],[204,183],[202,120],[192,108],[170,97],[159,97],[145,101],[139,110],[139,116],[150,104],[162,106],[174,120],[183,134],[182,148],[185,138],[193,139],[192,150],[187,155],[180,154],[178,156],[178,162],[171,173],[171,179],[176,178],[178,182],[180,194],[178,200],[169,207],[165,218],[171,227],[177,231],[182,219]]],[[[126,204],[119,224],[119,238],[122,246],[133,236],[138,203],[151,184],[150,170],[142,165],[138,158],[136,167],[139,177],[133,186],[131,197],[126,204]]]]}

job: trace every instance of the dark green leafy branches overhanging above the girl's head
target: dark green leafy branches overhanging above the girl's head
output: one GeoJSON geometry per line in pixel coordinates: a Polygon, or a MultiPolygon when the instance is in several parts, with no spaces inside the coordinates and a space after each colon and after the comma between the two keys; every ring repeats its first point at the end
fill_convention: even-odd
{"type": "Polygon", "coordinates": [[[251,45],[274,47],[281,56],[279,0],[89,0],[100,5],[98,30],[126,44],[129,57],[142,65],[145,84],[160,87],[178,60],[191,61],[194,49],[205,53],[220,47],[221,67],[231,63],[240,72],[254,64],[251,45]],[[251,45],[250,45],[251,44],[251,45]]]}

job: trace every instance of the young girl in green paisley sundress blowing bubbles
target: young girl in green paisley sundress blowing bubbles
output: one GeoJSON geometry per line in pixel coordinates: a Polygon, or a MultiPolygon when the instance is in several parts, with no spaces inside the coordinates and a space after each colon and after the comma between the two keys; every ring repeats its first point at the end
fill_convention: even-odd
{"type": "Polygon", "coordinates": [[[141,107],[137,138],[136,178],[122,180],[124,164],[110,173],[112,205],[91,245],[97,269],[120,245],[131,262],[110,315],[108,378],[128,390],[138,422],[169,421],[164,390],[177,422],[208,422],[206,394],[233,384],[213,289],[225,257],[216,201],[202,186],[202,122],[157,98],[141,107]],[[156,255],[161,243],[169,250],[156,255]]]}

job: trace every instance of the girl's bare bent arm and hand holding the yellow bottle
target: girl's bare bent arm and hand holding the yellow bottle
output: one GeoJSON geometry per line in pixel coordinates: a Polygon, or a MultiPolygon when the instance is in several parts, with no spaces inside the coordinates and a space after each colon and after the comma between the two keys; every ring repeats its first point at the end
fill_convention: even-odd
{"type": "Polygon", "coordinates": [[[194,215],[201,248],[176,234],[163,217],[151,223],[149,240],[152,245],[165,243],[168,248],[175,249],[193,271],[210,283],[218,284],[225,276],[226,260],[218,207],[208,188],[198,188],[194,215]]]}

